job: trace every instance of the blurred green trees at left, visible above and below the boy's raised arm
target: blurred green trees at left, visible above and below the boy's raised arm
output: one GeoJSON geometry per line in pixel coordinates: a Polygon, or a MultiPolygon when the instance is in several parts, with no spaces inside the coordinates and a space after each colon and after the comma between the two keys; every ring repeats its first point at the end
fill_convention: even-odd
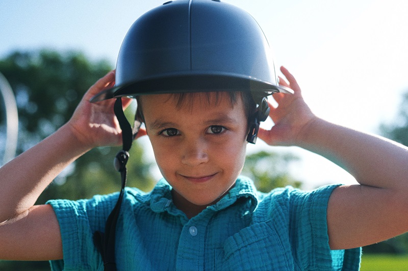
{"type": "MultiPolygon", "coordinates": [[[[17,152],[24,152],[66,123],[86,90],[110,70],[112,67],[107,61],[92,62],[75,51],[13,52],[0,60],[0,72],[10,82],[17,101],[17,152]]],[[[91,150],[62,172],[37,203],[51,198],[90,198],[118,191],[120,174],[113,168],[118,150],[118,147],[91,150]]],[[[142,154],[143,148],[135,141],[127,166],[128,185],[146,191],[154,182],[149,173],[150,164],[142,159],[142,154]]]]}

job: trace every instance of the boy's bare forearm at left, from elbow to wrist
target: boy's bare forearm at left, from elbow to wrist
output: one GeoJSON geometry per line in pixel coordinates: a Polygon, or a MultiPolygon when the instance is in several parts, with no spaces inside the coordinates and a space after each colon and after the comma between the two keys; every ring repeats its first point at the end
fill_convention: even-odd
{"type": "Polygon", "coordinates": [[[29,209],[70,163],[87,152],[68,125],[0,168],[0,222],[29,209]]]}

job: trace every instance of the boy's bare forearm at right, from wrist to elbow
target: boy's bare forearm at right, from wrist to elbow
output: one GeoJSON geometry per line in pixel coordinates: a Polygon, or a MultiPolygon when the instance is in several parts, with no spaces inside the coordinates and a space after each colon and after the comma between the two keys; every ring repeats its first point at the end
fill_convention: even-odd
{"type": "Polygon", "coordinates": [[[350,172],[362,185],[408,187],[408,148],[391,140],[341,127],[320,118],[299,144],[350,172]]]}

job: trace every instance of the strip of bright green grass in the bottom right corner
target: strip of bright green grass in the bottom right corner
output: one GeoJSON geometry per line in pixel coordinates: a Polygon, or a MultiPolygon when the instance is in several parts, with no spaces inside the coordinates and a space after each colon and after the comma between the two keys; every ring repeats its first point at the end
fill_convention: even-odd
{"type": "Polygon", "coordinates": [[[361,271],[408,270],[408,255],[363,254],[361,271]]]}

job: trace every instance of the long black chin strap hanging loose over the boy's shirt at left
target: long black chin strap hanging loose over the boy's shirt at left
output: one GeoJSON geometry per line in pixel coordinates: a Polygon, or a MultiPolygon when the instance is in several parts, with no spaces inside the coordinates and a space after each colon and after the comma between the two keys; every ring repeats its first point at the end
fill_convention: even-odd
{"type": "Polygon", "coordinates": [[[127,121],[123,109],[122,99],[117,98],[114,105],[114,112],[118,119],[120,129],[122,129],[122,150],[116,154],[114,165],[115,169],[120,172],[122,188],[119,193],[118,201],[113,208],[111,214],[106,220],[105,233],[95,231],[93,234],[93,243],[98,249],[102,259],[104,261],[105,271],[116,271],[115,263],[115,232],[116,224],[119,217],[120,206],[122,204],[122,198],[124,194],[124,187],[126,186],[126,163],[129,159],[129,150],[132,146],[132,142],[137,132],[140,129],[141,122],[135,120],[135,125],[132,131],[132,127],[127,121]]]}

